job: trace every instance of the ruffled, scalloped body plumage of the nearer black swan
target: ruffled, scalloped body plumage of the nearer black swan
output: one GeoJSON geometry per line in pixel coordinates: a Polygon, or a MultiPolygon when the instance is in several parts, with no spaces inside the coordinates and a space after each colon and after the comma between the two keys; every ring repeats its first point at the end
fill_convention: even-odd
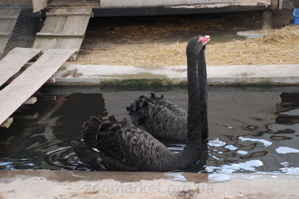
{"type": "MultiPolygon", "coordinates": [[[[92,116],[85,127],[81,133],[84,143],[90,149],[96,148],[101,152],[100,164],[105,168],[114,168],[112,162],[120,161],[132,170],[135,167],[151,170],[159,167],[159,159],[170,157],[173,153],[149,133],[129,124],[126,119],[118,121],[111,116],[104,121],[101,117],[92,116]]],[[[93,151],[89,154],[93,154],[93,151]]]]}

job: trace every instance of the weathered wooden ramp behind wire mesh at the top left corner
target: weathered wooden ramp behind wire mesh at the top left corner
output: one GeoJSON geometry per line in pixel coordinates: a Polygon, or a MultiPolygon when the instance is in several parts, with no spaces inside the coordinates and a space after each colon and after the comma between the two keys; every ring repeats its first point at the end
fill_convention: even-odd
{"type": "Polygon", "coordinates": [[[0,56],[5,49],[7,41],[13,33],[13,28],[16,25],[20,12],[21,9],[0,9],[0,56]]]}

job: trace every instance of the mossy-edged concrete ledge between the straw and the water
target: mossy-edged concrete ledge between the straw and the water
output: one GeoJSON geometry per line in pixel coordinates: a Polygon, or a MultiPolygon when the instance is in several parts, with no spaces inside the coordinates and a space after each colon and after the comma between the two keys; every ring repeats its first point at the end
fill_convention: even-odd
{"type": "MultiPolygon", "coordinates": [[[[53,85],[186,85],[187,66],[65,64],[53,85]]],[[[299,84],[299,65],[207,66],[209,85],[299,84]]]]}

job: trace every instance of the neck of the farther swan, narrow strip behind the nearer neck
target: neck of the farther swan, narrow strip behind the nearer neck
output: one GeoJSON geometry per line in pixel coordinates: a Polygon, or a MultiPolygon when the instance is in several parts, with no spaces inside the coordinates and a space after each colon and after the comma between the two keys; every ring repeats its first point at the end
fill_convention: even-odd
{"type": "Polygon", "coordinates": [[[209,137],[208,132],[208,85],[207,85],[207,65],[205,62],[205,49],[202,49],[197,57],[198,84],[200,92],[200,115],[202,117],[202,140],[209,137]]]}

